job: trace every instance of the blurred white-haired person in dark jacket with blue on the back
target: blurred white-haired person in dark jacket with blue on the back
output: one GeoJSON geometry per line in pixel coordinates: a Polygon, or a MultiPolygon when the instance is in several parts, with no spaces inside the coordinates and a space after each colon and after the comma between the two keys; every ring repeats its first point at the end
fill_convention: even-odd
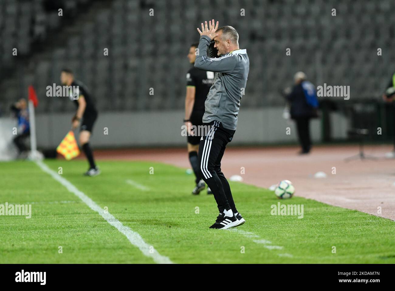
{"type": "Polygon", "coordinates": [[[308,154],[311,149],[310,118],[315,116],[315,107],[318,107],[318,103],[311,103],[311,99],[317,100],[316,89],[313,84],[306,81],[306,74],[303,72],[297,72],[294,79],[295,86],[286,98],[291,103],[291,118],[296,122],[299,143],[302,146],[300,154],[308,154]],[[310,104],[308,96],[311,96],[310,104]]]}

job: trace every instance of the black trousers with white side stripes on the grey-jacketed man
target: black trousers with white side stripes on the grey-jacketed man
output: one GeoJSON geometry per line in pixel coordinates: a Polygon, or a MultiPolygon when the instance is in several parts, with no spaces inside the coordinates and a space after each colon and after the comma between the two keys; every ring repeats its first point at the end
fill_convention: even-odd
{"type": "Polygon", "coordinates": [[[233,213],[236,213],[229,183],[221,171],[222,156],[235,131],[224,128],[218,121],[204,125],[210,126],[210,130],[202,136],[199,145],[201,178],[213,191],[218,210],[224,212],[224,209],[232,209],[233,213]]]}

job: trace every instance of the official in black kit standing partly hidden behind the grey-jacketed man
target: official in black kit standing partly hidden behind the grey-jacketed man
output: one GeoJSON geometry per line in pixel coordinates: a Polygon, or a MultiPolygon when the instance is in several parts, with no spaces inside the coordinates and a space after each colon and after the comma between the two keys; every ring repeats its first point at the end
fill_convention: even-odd
{"type": "MultiPolygon", "coordinates": [[[[186,97],[185,97],[185,119],[184,124],[188,129],[188,154],[189,162],[191,163],[192,169],[195,173],[196,186],[192,190],[192,194],[199,194],[201,190],[205,188],[205,182],[200,176],[200,166],[198,162],[198,151],[201,135],[197,135],[198,132],[192,131],[191,126],[203,126],[203,114],[204,114],[204,103],[207,98],[207,94],[210,91],[211,85],[214,82],[214,73],[209,71],[203,71],[195,68],[193,65],[196,59],[196,49],[199,43],[192,44],[189,48],[188,59],[192,64],[192,67],[186,74],[186,97]]],[[[214,46],[211,47],[213,49],[214,46]]],[[[199,132],[201,133],[201,132],[199,132]]],[[[212,192],[207,189],[208,194],[212,192]]]]}

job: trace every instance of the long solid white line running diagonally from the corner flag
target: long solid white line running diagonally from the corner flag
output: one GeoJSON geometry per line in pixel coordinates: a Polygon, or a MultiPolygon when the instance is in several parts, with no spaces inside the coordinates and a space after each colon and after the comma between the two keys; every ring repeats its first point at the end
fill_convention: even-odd
{"type": "Polygon", "coordinates": [[[53,177],[53,179],[55,179],[60,184],[65,186],[67,188],[67,190],[74,193],[75,196],[77,196],[85,204],[87,204],[90,209],[92,209],[92,210],[96,211],[97,213],[99,213],[100,215],[102,215],[102,217],[109,224],[111,224],[112,226],[117,228],[117,230],[119,230],[122,234],[124,234],[128,238],[128,240],[132,243],[132,245],[135,245],[136,247],[138,247],[140,249],[140,251],[143,253],[143,255],[145,255],[147,257],[152,257],[152,259],[154,259],[154,261],[157,262],[158,264],[173,264],[173,262],[170,261],[170,259],[168,257],[164,257],[164,256],[160,255],[158,253],[158,251],[156,251],[156,249],[154,249],[153,246],[146,243],[137,232],[131,230],[128,226],[124,226],[118,219],[116,219],[109,212],[104,213],[104,209],[102,209],[99,205],[97,205],[96,202],[94,202],[87,195],[85,195],[83,192],[78,190],[73,184],[71,184],[69,181],[64,179],[62,176],[58,175],[58,173],[49,169],[49,167],[46,164],[44,164],[41,161],[36,161],[36,164],[41,168],[41,170],[48,173],[49,175],[51,175],[53,177]]]}

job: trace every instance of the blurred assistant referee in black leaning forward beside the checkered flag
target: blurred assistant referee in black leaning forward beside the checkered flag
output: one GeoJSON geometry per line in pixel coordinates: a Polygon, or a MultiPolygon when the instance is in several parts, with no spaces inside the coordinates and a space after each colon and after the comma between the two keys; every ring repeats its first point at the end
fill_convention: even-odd
{"type": "Polygon", "coordinates": [[[60,74],[60,81],[62,82],[63,86],[72,86],[78,88],[75,92],[76,97],[73,97],[72,94],[69,95],[70,99],[73,100],[75,106],[77,107],[77,112],[71,120],[72,128],[76,129],[82,120],[79,132],[79,144],[82,147],[89,162],[89,169],[84,175],[99,175],[100,169],[95,164],[92,149],[89,146],[89,138],[92,134],[93,125],[96,121],[96,118],[98,117],[98,111],[96,110],[96,107],[94,106],[85,86],[81,82],[74,80],[74,74],[70,69],[65,68],[62,70],[60,74]]]}

